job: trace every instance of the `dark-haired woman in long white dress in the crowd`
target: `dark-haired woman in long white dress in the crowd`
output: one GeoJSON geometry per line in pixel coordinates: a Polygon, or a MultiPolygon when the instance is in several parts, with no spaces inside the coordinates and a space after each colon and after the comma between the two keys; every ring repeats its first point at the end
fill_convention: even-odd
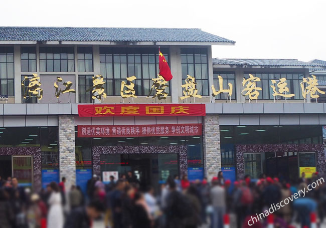
{"type": "Polygon", "coordinates": [[[47,228],[63,228],[64,217],[61,202],[61,193],[59,186],[56,182],[50,183],[51,195],[49,198],[49,213],[47,228]]]}

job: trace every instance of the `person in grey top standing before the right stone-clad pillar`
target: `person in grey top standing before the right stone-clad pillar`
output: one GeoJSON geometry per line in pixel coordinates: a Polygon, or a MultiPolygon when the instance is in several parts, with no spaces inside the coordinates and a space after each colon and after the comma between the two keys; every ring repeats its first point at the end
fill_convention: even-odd
{"type": "Polygon", "coordinates": [[[226,193],[217,177],[212,179],[210,198],[213,206],[212,228],[223,228],[223,215],[226,212],[226,193]]]}

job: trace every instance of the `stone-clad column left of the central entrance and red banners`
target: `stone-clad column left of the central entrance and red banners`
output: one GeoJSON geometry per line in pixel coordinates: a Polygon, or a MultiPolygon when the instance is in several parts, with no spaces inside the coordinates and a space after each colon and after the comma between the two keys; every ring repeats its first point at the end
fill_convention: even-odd
{"type": "Polygon", "coordinates": [[[73,115],[59,115],[60,181],[66,177],[66,191],[76,185],[75,120],[73,115]]]}

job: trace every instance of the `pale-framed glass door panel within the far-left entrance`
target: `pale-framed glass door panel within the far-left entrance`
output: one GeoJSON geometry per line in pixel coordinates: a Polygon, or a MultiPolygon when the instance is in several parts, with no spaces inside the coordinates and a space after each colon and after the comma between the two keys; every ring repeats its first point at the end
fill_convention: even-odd
{"type": "Polygon", "coordinates": [[[13,156],[13,176],[17,178],[20,186],[32,188],[33,183],[33,157],[13,156]]]}

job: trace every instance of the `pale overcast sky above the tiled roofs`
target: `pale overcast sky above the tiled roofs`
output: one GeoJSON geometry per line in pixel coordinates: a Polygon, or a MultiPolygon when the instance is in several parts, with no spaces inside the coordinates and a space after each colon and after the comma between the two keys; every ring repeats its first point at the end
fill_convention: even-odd
{"type": "Polygon", "coordinates": [[[213,57],[326,60],[325,0],[1,2],[1,26],[200,28],[236,41],[213,57]]]}

